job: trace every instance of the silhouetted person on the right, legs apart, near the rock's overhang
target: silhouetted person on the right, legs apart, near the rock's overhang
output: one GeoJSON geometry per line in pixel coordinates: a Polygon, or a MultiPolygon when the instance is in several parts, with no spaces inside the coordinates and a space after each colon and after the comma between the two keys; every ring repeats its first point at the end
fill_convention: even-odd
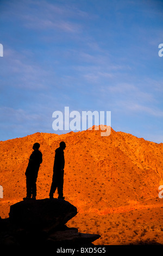
{"type": "Polygon", "coordinates": [[[65,142],[60,142],[60,147],[55,150],[55,159],[53,167],[53,179],[51,185],[51,191],[49,193],[49,198],[53,199],[53,194],[56,188],[58,188],[58,199],[65,199],[63,196],[63,186],[64,186],[64,167],[65,167],[65,157],[64,149],[66,148],[65,142]]]}

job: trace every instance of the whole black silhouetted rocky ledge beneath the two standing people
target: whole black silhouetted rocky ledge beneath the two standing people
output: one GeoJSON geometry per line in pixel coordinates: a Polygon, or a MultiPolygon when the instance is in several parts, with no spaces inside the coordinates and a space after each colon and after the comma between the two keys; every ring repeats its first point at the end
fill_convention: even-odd
{"type": "Polygon", "coordinates": [[[0,217],[0,246],[93,246],[100,235],[65,225],[76,215],[77,208],[61,199],[18,202],[10,206],[9,218],[0,217]]]}

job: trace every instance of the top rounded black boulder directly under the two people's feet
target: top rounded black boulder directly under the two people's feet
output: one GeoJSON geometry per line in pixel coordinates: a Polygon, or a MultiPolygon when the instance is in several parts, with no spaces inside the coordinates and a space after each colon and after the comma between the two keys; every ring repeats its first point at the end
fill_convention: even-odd
{"type": "Polygon", "coordinates": [[[24,200],[10,206],[12,223],[26,229],[51,229],[77,215],[77,208],[61,199],[24,200]]]}

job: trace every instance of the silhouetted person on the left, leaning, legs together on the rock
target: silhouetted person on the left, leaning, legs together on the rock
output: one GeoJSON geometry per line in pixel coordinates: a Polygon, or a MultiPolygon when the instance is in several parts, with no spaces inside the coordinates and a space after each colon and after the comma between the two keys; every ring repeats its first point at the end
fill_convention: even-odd
{"type": "Polygon", "coordinates": [[[27,186],[27,197],[23,200],[36,199],[36,180],[39,172],[40,164],[42,163],[42,153],[39,150],[40,144],[35,143],[33,145],[33,153],[29,157],[29,163],[26,169],[26,186],[27,186]]]}

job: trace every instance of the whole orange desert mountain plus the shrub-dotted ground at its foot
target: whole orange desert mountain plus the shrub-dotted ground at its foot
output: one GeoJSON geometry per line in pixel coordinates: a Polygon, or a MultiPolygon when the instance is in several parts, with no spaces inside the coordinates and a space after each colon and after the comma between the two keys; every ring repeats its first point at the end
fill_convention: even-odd
{"type": "MultiPolygon", "coordinates": [[[[121,133],[115,131],[106,138],[93,132],[62,137],[67,144],[64,194],[78,208],[77,216],[68,225],[81,232],[100,234],[96,241],[99,245],[162,243],[163,214],[157,192],[163,166],[162,146],[126,133],[122,133],[122,141],[121,133]]],[[[1,203],[0,199],[1,217],[8,217],[13,200],[18,202],[26,194],[24,172],[31,145],[36,140],[43,153],[37,198],[48,197],[58,138],[36,133],[0,142],[0,180],[7,201],[1,203]],[[22,149],[23,140],[25,149],[22,149]]]]}

